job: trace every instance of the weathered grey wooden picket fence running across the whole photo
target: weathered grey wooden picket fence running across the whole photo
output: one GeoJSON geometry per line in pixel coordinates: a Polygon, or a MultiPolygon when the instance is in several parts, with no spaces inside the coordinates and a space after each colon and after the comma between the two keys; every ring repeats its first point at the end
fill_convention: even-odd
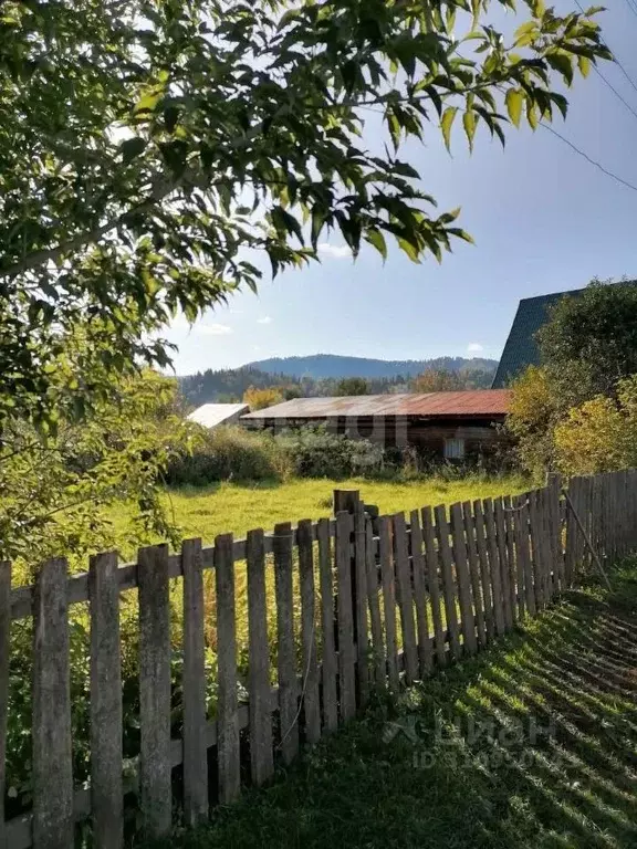
{"type": "Polygon", "coordinates": [[[90,821],[92,845],[124,845],[121,595],[137,591],[142,831],[167,835],[175,803],[187,825],[234,800],[246,779],[268,782],[365,706],[373,688],[397,690],[489,646],[534,616],[582,570],[637,551],[637,472],[557,480],[522,495],[377,517],[341,493],[334,518],[114,553],[67,575],[43,564],[35,585],[11,588],[0,568],[0,800],[12,622],[33,621],[32,810],[4,822],[0,846],[63,849],[90,821]],[[594,554],[593,554],[594,553],[594,554]],[[236,566],[247,564],[249,663],[239,698],[236,566]],[[276,639],[268,639],[267,574],[274,570],[276,639]],[[217,703],[207,715],[205,574],[216,590],[217,703]],[[182,585],[182,737],[171,738],[170,580],[182,585]],[[74,785],[70,606],[88,601],[91,776],[74,785]],[[275,656],[275,663],[272,662],[275,656]],[[276,685],[273,682],[276,681],[276,685]],[[179,768],[179,769],[178,769],[179,768]],[[175,775],[178,774],[179,780],[175,775]],[[210,775],[212,778],[209,780],[210,775]],[[178,798],[176,798],[178,797],[178,798]]]}

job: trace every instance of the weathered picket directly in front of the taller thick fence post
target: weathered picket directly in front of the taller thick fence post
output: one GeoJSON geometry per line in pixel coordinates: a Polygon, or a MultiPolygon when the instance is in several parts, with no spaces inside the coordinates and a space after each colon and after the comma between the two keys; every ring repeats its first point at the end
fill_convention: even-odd
{"type": "Polygon", "coordinates": [[[341,719],[346,722],[356,713],[356,675],[354,653],[354,621],[352,609],[349,513],[336,516],[336,585],[338,591],[338,683],[341,719]]]}

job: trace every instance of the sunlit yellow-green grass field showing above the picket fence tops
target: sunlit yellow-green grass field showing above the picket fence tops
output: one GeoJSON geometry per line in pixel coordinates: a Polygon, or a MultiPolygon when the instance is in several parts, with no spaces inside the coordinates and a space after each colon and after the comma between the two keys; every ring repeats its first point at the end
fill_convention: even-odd
{"type": "MultiPolygon", "coordinates": [[[[210,543],[216,534],[244,536],[254,527],[271,531],[276,522],[316,520],[332,514],[335,489],[359,490],[367,504],[377,504],[382,513],[397,513],[426,504],[452,504],[468,499],[484,499],[518,493],[528,488],[519,476],[481,480],[468,478],[443,481],[394,483],[368,480],[295,480],[286,483],[240,485],[220,483],[205,489],[168,491],[169,510],[185,537],[201,536],[210,543]]],[[[125,505],[113,511],[115,533],[126,557],[134,551],[126,543],[129,511],[125,505]]]]}

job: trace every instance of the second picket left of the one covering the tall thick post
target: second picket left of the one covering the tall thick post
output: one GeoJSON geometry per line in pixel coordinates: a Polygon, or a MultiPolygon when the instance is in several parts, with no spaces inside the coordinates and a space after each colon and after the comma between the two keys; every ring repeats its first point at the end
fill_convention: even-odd
{"type": "MultiPolygon", "coordinates": [[[[303,713],[305,740],[310,745],[321,737],[321,700],[316,658],[316,609],[312,522],[299,522],[299,586],[301,588],[301,647],[303,654],[303,713]]],[[[365,599],[365,596],[363,596],[365,599]]]]}

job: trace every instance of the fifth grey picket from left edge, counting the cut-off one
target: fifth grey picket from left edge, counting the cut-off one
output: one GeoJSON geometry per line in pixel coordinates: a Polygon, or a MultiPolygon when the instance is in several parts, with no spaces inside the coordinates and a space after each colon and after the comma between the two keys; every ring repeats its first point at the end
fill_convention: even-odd
{"type": "Polygon", "coordinates": [[[181,543],[184,570],[184,818],[195,827],[208,819],[206,747],[206,652],[201,539],[181,543]]]}

